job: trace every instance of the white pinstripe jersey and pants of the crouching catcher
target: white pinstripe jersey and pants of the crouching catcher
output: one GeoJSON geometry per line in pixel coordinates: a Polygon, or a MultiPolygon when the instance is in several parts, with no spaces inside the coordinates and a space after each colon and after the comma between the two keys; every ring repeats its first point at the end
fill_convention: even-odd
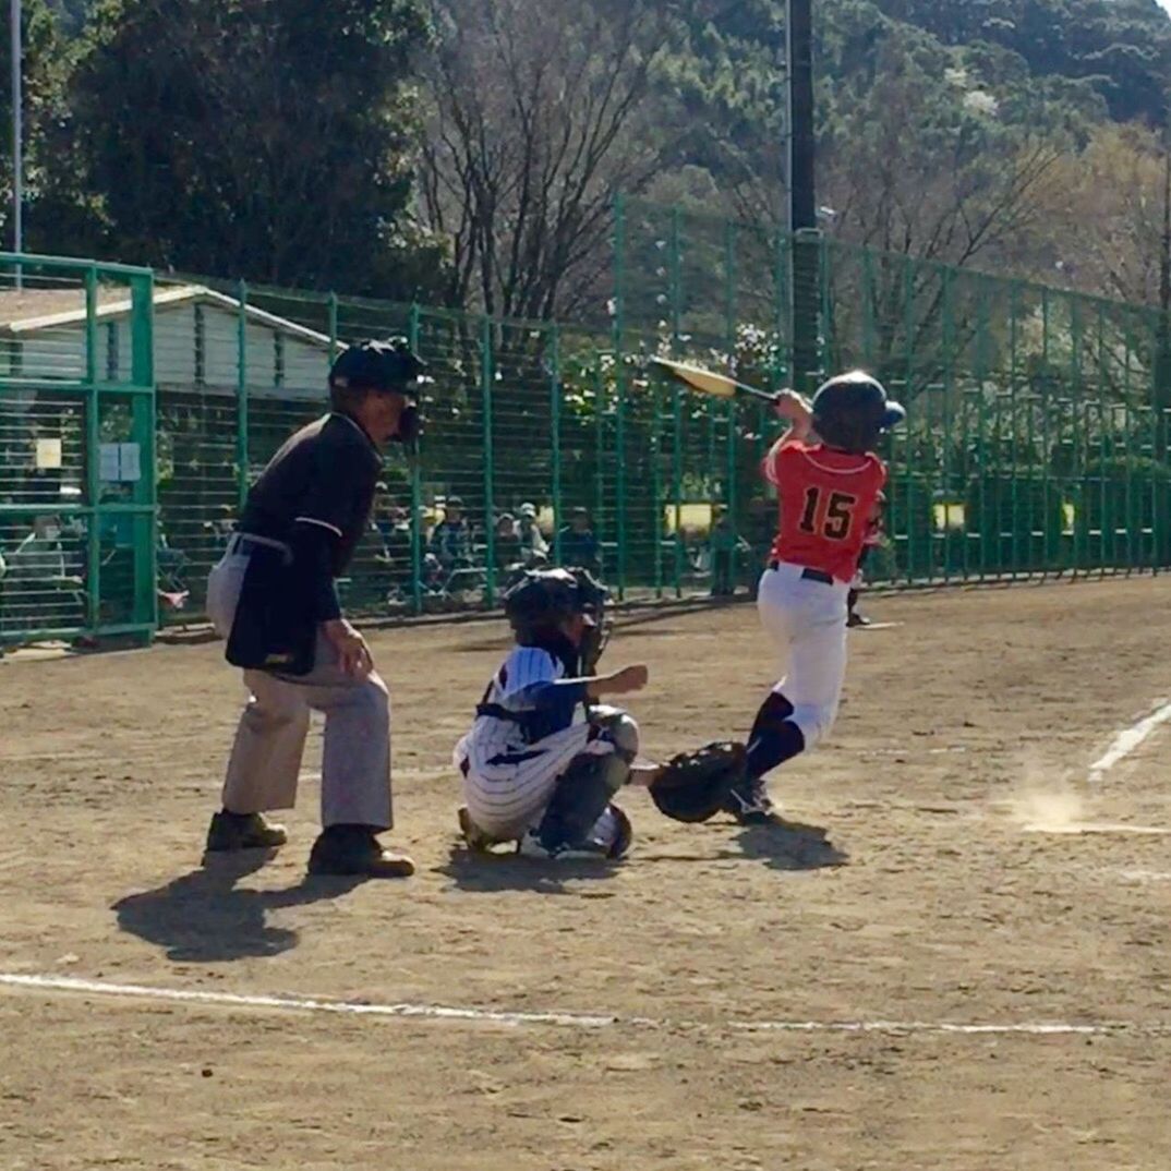
{"type": "MultiPolygon", "coordinates": [[[[564,674],[564,665],[548,651],[518,646],[493,676],[485,704],[534,713],[532,689],[564,674]]],[[[571,719],[568,726],[530,742],[515,720],[477,717],[456,746],[454,762],[464,774],[467,812],[485,834],[500,842],[522,837],[540,822],[574,758],[616,751],[610,740],[596,738],[580,704],[571,719]]]]}

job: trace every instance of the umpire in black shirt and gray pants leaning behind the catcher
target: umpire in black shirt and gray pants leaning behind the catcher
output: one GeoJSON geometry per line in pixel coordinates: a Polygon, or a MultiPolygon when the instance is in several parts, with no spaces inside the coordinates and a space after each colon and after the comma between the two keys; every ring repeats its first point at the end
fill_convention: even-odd
{"type": "Polygon", "coordinates": [[[415,872],[377,837],[393,824],[390,696],[365,639],[342,616],[335,578],[369,527],[381,448],[419,431],[422,369],[402,338],[343,351],[329,375],[330,412],[273,457],[211,573],[207,612],[249,697],[208,852],[285,844],[285,828],[265,814],[296,801],[311,708],[324,713],[326,732],[322,833],[309,872],[415,872]]]}

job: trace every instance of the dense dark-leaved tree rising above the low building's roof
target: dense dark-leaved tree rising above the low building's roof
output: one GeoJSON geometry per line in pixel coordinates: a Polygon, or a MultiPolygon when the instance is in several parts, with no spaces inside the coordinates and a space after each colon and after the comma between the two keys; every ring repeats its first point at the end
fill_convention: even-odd
{"type": "MultiPolygon", "coordinates": [[[[63,151],[125,260],[411,296],[416,0],[103,0],[63,151]]],[[[93,225],[91,225],[93,230],[93,225]]]]}

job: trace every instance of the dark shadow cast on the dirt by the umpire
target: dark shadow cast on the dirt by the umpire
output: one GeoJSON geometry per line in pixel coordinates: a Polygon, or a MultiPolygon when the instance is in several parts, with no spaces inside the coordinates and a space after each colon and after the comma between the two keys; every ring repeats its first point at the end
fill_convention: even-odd
{"type": "Polygon", "coordinates": [[[271,851],[210,855],[191,874],[114,904],[118,926],[166,949],[176,963],[214,964],[249,957],[279,956],[300,941],[296,931],[269,926],[268,911],[306,906],[351,891],[361,878],[306,876],[287,890],[238,890],[271,851]]]}

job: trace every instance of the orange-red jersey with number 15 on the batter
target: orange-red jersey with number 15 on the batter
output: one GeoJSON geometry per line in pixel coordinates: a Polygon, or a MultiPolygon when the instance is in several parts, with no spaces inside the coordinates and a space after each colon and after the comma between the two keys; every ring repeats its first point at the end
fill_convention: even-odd
{"type": "Polygon", "coordinates": [[[781,506],[773,559],[849,582],[886,482],[883,461],[790,439],[768,453],[763,473],[781,506]]]}

